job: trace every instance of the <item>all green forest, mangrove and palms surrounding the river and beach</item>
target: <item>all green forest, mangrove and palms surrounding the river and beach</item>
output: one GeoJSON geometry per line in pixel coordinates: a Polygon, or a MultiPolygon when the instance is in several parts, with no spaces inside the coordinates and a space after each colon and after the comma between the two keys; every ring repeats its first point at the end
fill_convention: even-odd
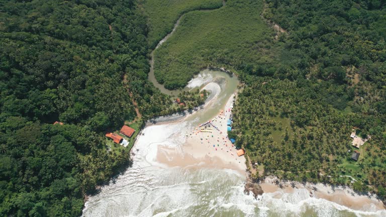
{"type": "Polygon", "coordinates": [[[384,0],[10,0],[0,1],[1,216],[81,215],[85,195],[132,163],[107,131],[204,102],[181,92],[178,105],[147,79],[150,51],[181,15],[154,53],[155,76],[169,89],[207,67],[238,76],[231,134],[259,165],[255,180],[386,198],[384,0]],[[353,128],[370,138],[359,149],[353,128]]]}

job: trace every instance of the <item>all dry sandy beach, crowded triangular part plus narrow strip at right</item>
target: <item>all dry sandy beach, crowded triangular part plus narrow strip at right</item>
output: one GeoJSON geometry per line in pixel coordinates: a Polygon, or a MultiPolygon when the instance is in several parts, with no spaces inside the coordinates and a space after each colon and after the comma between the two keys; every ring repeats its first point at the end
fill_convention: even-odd
{"type": "MultiPolygon", "coordinates": [[[[232,94],[218,114],[212,119],[207,120],[211,121],[211,124],[206,124],[202,127],[196,126],[188,131],[176,134],[176,137],[184,140],[183,145],[176,147],[159,146],[156,160],[169,167],[232,169],[241,175],[247,176],[245,157],[237,156],[237,149],[227,137],[227,120],[232,114],[231,105],[235,96],[235,94],[232,94]]],[[[215,100],[216,97],[212,98],[206,105],[213,103],[215,100]]],[[[183,120],[186,118],[188,117],[183,118],[183,120]]],[[[175,125],[178,124],[178,121],[168,124],[175,125]]],[[[375,196],[356,194],[349,187],[331,186],[321,183],[302,184],[278,180],[281,183],[280,188],[275,184],[276,180],[276,177],[270,176],[260,184],[264,191],[262,196],[269,194],[269,197],[275,199],[287,197],[299,199],[299,201],[292,202],[302,202],[312,198],[325,199],[353,210],[384,210],[382,201],[378,200],[375,196]],[[292,186],[292,183],[295,183],[295,185],[292,186]]]]}

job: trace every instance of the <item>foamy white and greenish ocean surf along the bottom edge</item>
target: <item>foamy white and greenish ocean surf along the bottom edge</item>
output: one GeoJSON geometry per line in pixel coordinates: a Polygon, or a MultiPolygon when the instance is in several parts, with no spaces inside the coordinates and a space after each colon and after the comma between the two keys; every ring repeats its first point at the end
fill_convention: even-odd
{"type": "MultiPolygon", "coordinates": [[[[137,160],[137,159],[136,159],[137,160]]],[[[145,160],[146,161],[146,160],[145,160]]],[[[258,200],[232,170],[167,168],[137,163],[86,203],[84,216],[386,216],[309,196],[305,189],[258,200]]]]}

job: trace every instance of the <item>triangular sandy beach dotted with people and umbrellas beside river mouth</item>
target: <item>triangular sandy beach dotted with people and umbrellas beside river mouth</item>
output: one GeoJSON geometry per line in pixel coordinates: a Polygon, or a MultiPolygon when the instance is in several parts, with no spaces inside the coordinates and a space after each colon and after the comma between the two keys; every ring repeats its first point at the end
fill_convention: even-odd
{"type": "Polygon", "coordinates": [[[234,99],[235,94],[218,111],[217,116],[207,120],[211,121],[211,124],[196,126],[182,135],[185,139],[184,145],[175,148],[159,147],[157,161],[172,167],[233,169],[246,175],[245,158],[237,156],[237,149],[227,137],[227,120],[230,118],[234,99]]]}

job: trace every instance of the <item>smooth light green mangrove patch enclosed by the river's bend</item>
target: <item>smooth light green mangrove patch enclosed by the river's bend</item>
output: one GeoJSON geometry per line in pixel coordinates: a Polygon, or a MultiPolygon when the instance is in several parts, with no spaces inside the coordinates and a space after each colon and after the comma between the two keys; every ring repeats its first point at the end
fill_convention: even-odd
{"type": "Polygon", "coordinates": [[[225,7],[183,16],[176,32],[155,51],[154,72],[166,88],[178,88],[208,65],[271,61],[273,30],[260,18],[260,1],[227,1],[225,7]],[[264,57],[263,57],[264,56],[264,57]],[[268,60],[270,59],[270,60],[268,60]]]}

